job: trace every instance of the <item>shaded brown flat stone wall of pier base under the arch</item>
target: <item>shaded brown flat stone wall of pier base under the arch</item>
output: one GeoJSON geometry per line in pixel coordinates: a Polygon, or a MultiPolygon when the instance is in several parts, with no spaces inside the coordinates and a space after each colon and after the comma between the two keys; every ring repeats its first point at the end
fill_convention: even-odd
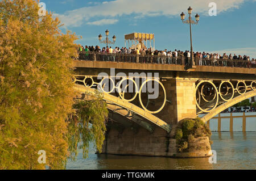
{"type": "Polygon", "coordinates": [[[102,153],[172,157],[177,153],[176,140],[167,136],[167,133],[160,128],[156,128],[152,134],[143,128],[135,134],[129,128],[122,133],[110,128],[106,134],[102,153]]]}

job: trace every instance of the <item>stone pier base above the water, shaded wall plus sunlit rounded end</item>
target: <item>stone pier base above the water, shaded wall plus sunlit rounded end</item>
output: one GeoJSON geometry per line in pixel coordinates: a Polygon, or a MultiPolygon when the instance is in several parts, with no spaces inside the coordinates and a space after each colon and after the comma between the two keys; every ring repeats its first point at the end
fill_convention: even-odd
{"type": "Polygon", "coordinates": [[[109,128],[102,148],[102,154],[141,155],[154,157],[199,158],[210,157],[211,147],[208,137],[189,140],[189,149],[178,153],[174,137],[176,127],[169,136],[160,128],[150,134],[140,128],[137,133],[126,128],[122,133],[109,128]]]}

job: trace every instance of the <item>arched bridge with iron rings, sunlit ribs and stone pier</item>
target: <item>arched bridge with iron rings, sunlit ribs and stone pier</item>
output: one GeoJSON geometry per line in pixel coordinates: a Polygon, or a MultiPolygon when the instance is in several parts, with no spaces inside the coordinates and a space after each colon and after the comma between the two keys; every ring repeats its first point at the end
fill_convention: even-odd
{"type": "Polygon", "coordinates": [[[97,61],[97,54],[93,61],[74,63],[74,88],[84,99],[101,91],[108,104],[104,153],[174,155],[179,121],[203,114],[207,122],[256,96],[256,69],[246,64],[186,70],[182,64],[97,61]]]}

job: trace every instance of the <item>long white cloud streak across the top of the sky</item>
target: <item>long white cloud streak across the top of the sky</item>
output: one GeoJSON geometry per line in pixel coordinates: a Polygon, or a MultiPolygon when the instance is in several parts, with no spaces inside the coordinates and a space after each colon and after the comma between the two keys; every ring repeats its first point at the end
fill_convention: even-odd
{"type": "MultiPolygon", "coordinates": [[[[119,18],[122,15],[134,16],[178,16],[182,11],[187,14],[188,5],[199,14],[208,14],[209,3],[213,0],[115,0],[102,2],[94,6],[86,6],[80,9],[67,11],[64,14],[54,14],[59,16],[61,22],[68,27],[79,27],[88,23],[90,19],[96,22],[103,19],[119,18]]],[[[214,0],[217,4],[217,13],[230,9],[238,9],[246,0],[214,0]]],[[[255,0],[253,0],[255,1],[255,0]]],[[[131,16],[133,18],[133,16],[131,16]]],[[[111,22],[110,22],[111,23],[111,22]]],[[[96,23],[96,25],[98,25],[96,23]]]]}

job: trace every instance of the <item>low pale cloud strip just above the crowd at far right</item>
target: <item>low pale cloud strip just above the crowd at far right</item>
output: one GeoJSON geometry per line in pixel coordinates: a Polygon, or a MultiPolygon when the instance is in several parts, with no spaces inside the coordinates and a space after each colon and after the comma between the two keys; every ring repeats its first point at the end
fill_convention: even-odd
{"type": "Polygon", "coordinates": [[[256,58],[256,47],[248,47],[248,48],[233,48],[233,49],[224,49],[224,50],[217,50],[217,51],[212,51],[209,53],[226,53],[226,54],[230,54],[232,53],[234,55],[234,53],[236,55],[246,55],[246,56],[250,56],[250,58],[256,58]]]}

